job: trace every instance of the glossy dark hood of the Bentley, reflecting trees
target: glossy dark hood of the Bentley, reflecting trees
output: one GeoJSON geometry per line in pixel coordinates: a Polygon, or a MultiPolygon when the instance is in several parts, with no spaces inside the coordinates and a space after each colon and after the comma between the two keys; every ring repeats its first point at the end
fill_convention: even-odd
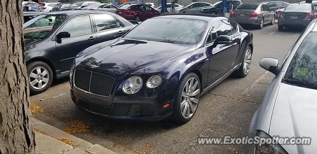
{"type": "Polygon", "coordinates": [[[115,76],[130,74],[142,67],[195,48],[196,46],[163,42],[117,39],[85,51],[84,55],[76,58],[76,67],[94,69],[115,76]]]}

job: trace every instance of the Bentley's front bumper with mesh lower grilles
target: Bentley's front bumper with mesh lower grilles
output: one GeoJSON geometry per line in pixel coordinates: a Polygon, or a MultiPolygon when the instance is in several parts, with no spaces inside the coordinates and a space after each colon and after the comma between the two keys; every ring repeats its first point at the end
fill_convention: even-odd
{"type": "Polygon", "coordinates": [[[166,108],[162,107],[157,98],[140,98],[135,100],[126,97],[109,98],[87,94],[76,88],[70,90],[71,98],[76,106],[82,110],[104,116],[110,119],[137,119],[144,121],[160,121],[172,114],[172,102],[166,108]]]}

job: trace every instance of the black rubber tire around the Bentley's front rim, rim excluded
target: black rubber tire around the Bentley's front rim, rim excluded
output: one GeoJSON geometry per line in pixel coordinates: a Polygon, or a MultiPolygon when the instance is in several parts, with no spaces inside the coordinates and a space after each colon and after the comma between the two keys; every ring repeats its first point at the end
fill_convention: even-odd
{"type": "MultiPolygon", "coordinates": [[[[183,77],[183,79],[181,80],[181,82],[180,82],[180,84],[179,84],[179,86],[178,86],[178,88],[176,90],[176,93],[175,93],[176,95],[175,95],[175,99],[174,99],[174,103],[173,103],[173,113],[171,115],[171,120],[174,121],[174,122],[185,124],[188,121],[190,121],[192,119],[192,117],[194,117],[194,115],[195,115],[195,113],[197,111],[198,104],[199,104],[199,99],[198,99],[196,110],[195,110],[195,112],[193,113],[193,115],[190,118],[187,118],[187,119],[184,118],[182,116],[181,108],[180,108],[183,89],[184,89],[185,84],[187,83],[187,81],[189,79],[191,79],[192,77],[197,79],[197,81],[199,82],[199,87],[200,87],[200,82],[201,81],[199,80],[199,77],[197,76],[197,74],[188,73],[187,75],[185,75],[183,77]]],[[[200,95],[200,93],[199,93],[199,95],[200,95]]]]}

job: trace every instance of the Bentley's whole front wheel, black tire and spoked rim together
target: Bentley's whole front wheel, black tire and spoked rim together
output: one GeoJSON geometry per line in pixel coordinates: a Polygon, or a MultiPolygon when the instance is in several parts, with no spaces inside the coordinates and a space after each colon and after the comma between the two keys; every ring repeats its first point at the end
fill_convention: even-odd
{"type": "Polygon", "coordinates": [[[173,121],[184,124],[194,117],[199,104],[200,91],[200,80],[197,74],[189,73],[183,77],[175,93],[173,113],[171,115],[173,121]],[[196,85],[196,87],[192,85],[190,88],[191,83],[196,85]],[[190,91],[187,91],[186,85],[190,91]]]}

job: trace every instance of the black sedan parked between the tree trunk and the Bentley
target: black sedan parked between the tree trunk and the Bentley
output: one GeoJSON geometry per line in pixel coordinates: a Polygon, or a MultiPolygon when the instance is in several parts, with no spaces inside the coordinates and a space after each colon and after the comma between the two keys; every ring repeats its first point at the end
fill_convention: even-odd
{"type": "Polygon", "coordinates": [[[118,38],[133,27],[116,14],[98,11],[50,12],[24,23],[30,92],[42,93],[53,78],[67,77],[80,51],[118,38]]]}

